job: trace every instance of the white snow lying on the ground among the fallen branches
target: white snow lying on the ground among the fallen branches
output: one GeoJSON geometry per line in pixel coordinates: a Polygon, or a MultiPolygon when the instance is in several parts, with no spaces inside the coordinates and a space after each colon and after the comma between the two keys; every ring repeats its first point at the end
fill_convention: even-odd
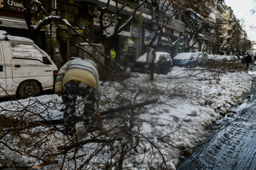
{"type": "MultiPolygon", "coordinates": [[[[106,164],[113,165],[121,157],[122,168],[126,169],[175,169],[181,156],[190,153],[191,149],[206,138],[205,128],[208,125],[212,125],[223,115],[229,113],[232,106],[242,103],[242,96],[250,92],[250,79],[251,76],[246,72],[218,73],[206,69],[187,70],[174,67],[174,70],[167,75],[155,74],[153,83],[149,82],[146,74],[131,73],[131,77],[125,81],[127,89],[116,82],[104,83],[102,85],[102,110],[154,98],[158,98],[158,102],[134,109],[129,114],[119,112],[115,113],[114,117],[102,117],[103,128],[114,128],[115,125],[122,125],[122,122],[125,122],[122,126],[118,126],[114,133],[110,133],[110,136],[120,133],[122,137],[114,141],[111,146],[108,144],[102,146],[101,152],[97,153],[98,156],[90,159],[90,162],[98,163],[91,163],[91,168],[106,168],[106,164]],[[124,121],[129,117],[132,118],[124,121]],[[130,131],[123,132],[119,129],[131,124],[134,127],[130,131]],[[126,141],[123,139],[130,139],[126,136],[136,140],[124,146],[122,144],[126,144],[126,141]],[[133,147],[135,149],[125,155],[126,151],[133,147]]],[[[29,105],[30,102],[30,105],[35,105],[33,113],[40,113],[40,117],[45,117],[45,119],[62,117],[62,112],[59,111],[62,109],[61,97],[44,95],[32,99],[20,100],[18,104],[17,101],[2,102],[0,105],[5,110],[1,114],[10,116],[10,110],[17,111],[18,108],[29,105]],[[43,107],[38,106],[38,102],[43,104],[43,107]]],[[[82,108],[83,106],[80,105],[78,114],[82,108]]],[[[27,108],[22,109],[22,112],[23,117],[28,117],[32,113],[27,108]]],[[[37,117],[38,115],[35,115],[34,119],[37,117]]],[[[76,128],[77,132],[84,130],[83,125],[78,124],[76,128]]],[[[47,132],[49,129],[40,130],[47,132]]],[[[63,140],[65,136],[60,137],[61,135],[61,132],[57,132],[48,139],[50,142],[46,145],[52,149],[52,152],[67,141],[67,139],[63,140]]],[[[47,148],[47,146],[44,147],[47,148]]],[[[84,165],[85,160],[82,159],[82,155],[96,154],[94,151],[98,147],[97,143],[91,143],[76,150],[75,154],[78,157],[76,166],[84,165]]],[[[0,144],[0,148],[2,152],[13,154],[3,144],[0,144]]],[[[33,151],[32,148],[29,150],[33,151]]],[[[34,152],[36,151],[35,149],[34,152]]],[[[16,157],[15,161],[18,161],[18,158],[30,166],[38,161],[25,155],[16,157]]],[[[59,159],[62,160],[63,157],[59,159]]],[[[69,163],[68,166],[74,167],[75,165],[69,163]]],[[[117,167],[113,165],[113,168],[117,167]]]]}

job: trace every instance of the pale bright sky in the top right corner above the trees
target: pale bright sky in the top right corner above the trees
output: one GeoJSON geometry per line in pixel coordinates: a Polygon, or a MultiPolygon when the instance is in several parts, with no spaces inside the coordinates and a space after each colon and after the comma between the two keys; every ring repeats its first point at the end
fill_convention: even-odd
{"type": "Polygon", "coordinates": [[[250,11],[256,8],[256,0],[225,0],[225,2],[234,10],[235,16],[244,23],[248,39],[256,42],[256,14],[250,11]]]}

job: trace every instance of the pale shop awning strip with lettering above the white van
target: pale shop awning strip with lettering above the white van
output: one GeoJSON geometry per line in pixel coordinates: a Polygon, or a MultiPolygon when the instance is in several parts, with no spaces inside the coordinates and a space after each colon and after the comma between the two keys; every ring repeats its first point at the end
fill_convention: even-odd
{"type": "Polygon", "coordinates": [[[28,29],[24,19],[3,17],[3,16],[0,16],[0,26],[18,28],[18,29],[28,29]]]}

